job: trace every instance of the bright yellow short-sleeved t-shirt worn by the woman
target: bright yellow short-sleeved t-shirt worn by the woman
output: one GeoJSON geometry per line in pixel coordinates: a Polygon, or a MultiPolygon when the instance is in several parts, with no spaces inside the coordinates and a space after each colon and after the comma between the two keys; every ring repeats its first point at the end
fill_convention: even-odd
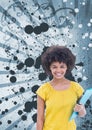
{"type": "Polygon", "coordinates": [[[75,121],[69,117],[83,91],[74,81],[66,90],[55,90],[49,82],[44,83],[36,92],[46,104],[43,130],[76,130],[75,121]]]}

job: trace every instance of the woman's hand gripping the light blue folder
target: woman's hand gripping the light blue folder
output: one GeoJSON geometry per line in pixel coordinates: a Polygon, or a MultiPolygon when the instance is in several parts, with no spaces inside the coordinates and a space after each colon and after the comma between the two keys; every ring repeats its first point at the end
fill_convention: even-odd
{"type": "Polygon", "coordinates": [[[74,107],[74,111],[78,112],[80,117],[84,117],[86,115],[86,109],[85,106],[82,104],[76,104],[74,107]]]}

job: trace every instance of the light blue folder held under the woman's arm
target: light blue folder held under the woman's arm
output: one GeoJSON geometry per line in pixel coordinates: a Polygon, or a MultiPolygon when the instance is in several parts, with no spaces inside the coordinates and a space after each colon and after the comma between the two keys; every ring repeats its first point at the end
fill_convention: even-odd
{"type": "MultiPolygon", "coordinates": [[[[85,105],[86,101],[89,99],[89,97],[92,95],[92,88],[87,89],[83,96],[81,97],[81,99],[79,100],[79,104],[83,104],[85,105]]],[[[73,112],[72,115],[70,116],[69,121],[71,121],[72,119],[76,118],[76,116],[78,115],[78,112],[73,112]]]]}

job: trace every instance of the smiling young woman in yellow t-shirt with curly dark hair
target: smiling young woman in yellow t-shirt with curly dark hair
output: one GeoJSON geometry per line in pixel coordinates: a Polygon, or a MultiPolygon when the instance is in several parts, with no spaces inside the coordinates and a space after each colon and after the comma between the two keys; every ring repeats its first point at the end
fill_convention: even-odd
{"type": "Polygon", "coordinates": [[[82,96],[83,88],[65,78],[75,66],[75,56],[64,46],[51,46],[42,55],[43,69],[52,80],[37,90],[37,130],[76,130],[71,113],[85,116],[85,107],[76,104],[82,96]]]}

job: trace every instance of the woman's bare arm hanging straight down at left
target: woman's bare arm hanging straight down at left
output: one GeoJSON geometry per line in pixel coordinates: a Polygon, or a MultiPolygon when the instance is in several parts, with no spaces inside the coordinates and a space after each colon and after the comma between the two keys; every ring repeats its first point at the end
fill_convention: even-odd
{"type": "Polygon", "coordinates": [[[37,126],[36,130],[43,130],[43,123],[44,123],[44,107],[45,103],[44,100],[37,96],[37,126]]]}

